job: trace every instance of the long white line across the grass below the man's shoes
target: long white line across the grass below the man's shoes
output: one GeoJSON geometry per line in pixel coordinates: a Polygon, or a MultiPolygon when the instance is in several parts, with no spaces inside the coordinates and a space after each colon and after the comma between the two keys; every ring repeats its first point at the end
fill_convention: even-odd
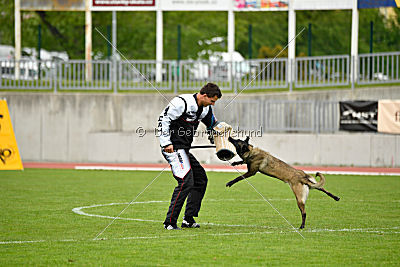
{"type": "MultiPolygon", "coordinates": [[[[324,232],[358,232],[358,233],[372,233],[372,234],[400,234],[400,231],[390,231],[397,230],[399,227],[392,228],[343,228],[343,229],[312,229],[312,230],[302,230],[303,233],[324,233],[324,232]]],[[[196,236],[240,236],[240,235],[265,235],[265,234],[289,234],[295,233],[295,231],[262,231],[262,232],[238,232],[238,233],[201,233],[201,234],[188,234],[180,235],[179,233],[183,231],[174,231],[171,235],[155,235],[155,236],[130,236],[130,237],[119,237],[119,238],[99,238],[99,239],[61,239],[61,240],[17,240],[17,241],[0,241],[0,245],[18,245],[18,244],[33,244],[33,243],[44,243],[44,242],[98,242],[105,240],[137,240],[137,239],[167,239],[167,238],[187,238],[196,236]]],[[[190,230],[189,230],[190,231],[190,230]]]]}

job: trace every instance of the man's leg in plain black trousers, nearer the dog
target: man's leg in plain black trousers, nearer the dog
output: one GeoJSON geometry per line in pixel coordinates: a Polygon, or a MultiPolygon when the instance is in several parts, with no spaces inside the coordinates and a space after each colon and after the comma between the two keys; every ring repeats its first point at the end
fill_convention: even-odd
{"type": "Polygon", "coordinates": [[[188,195],[185,219],[191,220],[193,217],[199,215],[201,201],[203,200],[204,194],[207,188],[207,175],[204,168],[200,165],[197,159],[189,153],[190,165],[192,166],[193,181],[194,185],[188,195]]]}

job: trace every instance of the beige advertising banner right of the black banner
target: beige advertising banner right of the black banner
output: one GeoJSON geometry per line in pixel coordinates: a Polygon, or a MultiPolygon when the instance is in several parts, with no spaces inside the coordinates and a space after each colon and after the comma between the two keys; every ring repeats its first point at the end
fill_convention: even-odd
{"type": "Polygon", "coordinates": [[[400,134],[400,100],[379,100],[378,132],[400,134]]]}

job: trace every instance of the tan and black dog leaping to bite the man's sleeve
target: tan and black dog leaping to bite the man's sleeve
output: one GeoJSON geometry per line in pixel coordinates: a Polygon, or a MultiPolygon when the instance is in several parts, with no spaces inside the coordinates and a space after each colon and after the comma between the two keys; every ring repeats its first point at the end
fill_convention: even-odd
{"type": "Polygon", "coordinates": [[[302,222],[300,229],[304,228],[306,223],[306,200],[310,189],[317,189],[324,192],[336,201],[340,198],[326,191],[323,186],[325,184],[325,177],[321,173],[317,172],[316,176],[320,177],[320,181],[317,182],[314,177],[306,174],[302,170],[298,170],[283,162],[280,159],[275,158],[268,152],[265,152],[259,148],[253,147],[249,144],[249,137],[245,141],[236,140],[229,137],[229,141],[235,146],[236,152],[243,159],[243,161],[233,162],[232,166],[239,164],[247,164],[247,172],[236,179],[228,182],[227,187],[231,187],[235,183],[255,175],[257,172],[262,174],[280,179],[290,185],[294,195],[296,196],[297,205],[301,211],[302,222]]]}

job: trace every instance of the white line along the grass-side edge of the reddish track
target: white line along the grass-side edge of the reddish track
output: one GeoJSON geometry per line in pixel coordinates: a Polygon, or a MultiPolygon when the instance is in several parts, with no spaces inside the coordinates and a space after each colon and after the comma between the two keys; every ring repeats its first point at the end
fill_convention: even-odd
{"type": "MultiPolygon", "coordinates": [[[[161,167],[118,167],[118,166],[75,166],[76,170],[105,170],[105,171],[161,171],[161,167]]],[[[204,168],[207,172],[236,172],[234,168],[204,168]]],[[[245,169],[239,169],[245,172],[245,169]]],[[[305,171],[309,174],[314,174],[320,171],[318,169],[305,171]]],[[[358,171],[323,171],[324,174],[333,175],[385,175],[385,176],[400,176],[397,172],[358,172],[358,171]]]]}

